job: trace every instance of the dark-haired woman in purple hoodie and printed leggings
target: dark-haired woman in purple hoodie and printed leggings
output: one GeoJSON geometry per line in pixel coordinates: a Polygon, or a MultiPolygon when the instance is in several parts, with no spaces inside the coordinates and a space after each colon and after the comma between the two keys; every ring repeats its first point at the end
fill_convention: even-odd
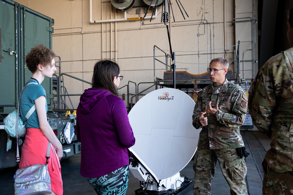
{"type": "Polygon", "coordinates": [[[123,76],[115,61],[96,62],[92,88],[84,90],[76,110],[81,142],[80,174],[97,194],[126,194],[129,147],[135,143],[124,101],[118,97],[123,76]]]}

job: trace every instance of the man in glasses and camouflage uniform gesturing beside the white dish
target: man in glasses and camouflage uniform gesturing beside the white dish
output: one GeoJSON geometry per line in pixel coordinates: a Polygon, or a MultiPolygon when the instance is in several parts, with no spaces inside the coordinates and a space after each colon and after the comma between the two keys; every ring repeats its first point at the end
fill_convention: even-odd
{"type": "Polygon", "coordinates": [[[246,164],[236,151],[244,151],[239,127],[246,117],[247,97],[240,86],[225,78],[228,66],[224,58],[210,62],[208,71],[213,84],[200,91],[193,111],[193,126],[202,128],[193,163],[195,195],[211,194],[217,162],[230,186],[230,194],[247,194],[246,164]]]}

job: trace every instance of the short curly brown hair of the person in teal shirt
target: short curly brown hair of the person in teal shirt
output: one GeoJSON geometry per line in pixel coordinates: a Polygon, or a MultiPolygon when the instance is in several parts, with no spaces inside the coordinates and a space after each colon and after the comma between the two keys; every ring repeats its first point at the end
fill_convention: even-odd
{"type": "Polygon", "coordinates": [[[38,65],[42,64],[43,66],[51,65],[52,59],[56,55],[51,49],[48,49],[43,44],[35,44],[30,50],[30,53],[26,56],[25,63],[30,72],[35,73],[37,71],[38,65]]]}

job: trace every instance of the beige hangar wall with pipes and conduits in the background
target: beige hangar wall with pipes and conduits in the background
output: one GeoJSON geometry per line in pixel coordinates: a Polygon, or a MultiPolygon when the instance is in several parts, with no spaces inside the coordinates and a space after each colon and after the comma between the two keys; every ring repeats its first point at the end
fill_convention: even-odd
{"type": "MultiPolygon", "coordinates": [[[[126,11],[127,18],[144,16],[148,6],[140,0],[136,1],[134,7],[126,11]]],[[[170,53],[166,26],[161,23],[162,6],[158,7],[157,17],[151,22],[130,20],[91,24],[90,0],[16,0],[16,2],[54,19],[53,51],[61,57],[62,73],[91,81],[94,63],[102,58],[112,58],[118,62],[121,75],[124,76],[120,87],[128,84],[129,81],[137,84],[153,82],[154,45],[170,53]]],[[[234,50],[236,39],[239,37],[243,39],[245,43],[243,45],[247,45],[247,48],[241,48],[241,55],[245,49],[252,49],[253,45],[249,43],[253,42],[251,21],[242,23],[238,29],[233,21],[235,15],[237,17],[240,15],[242,18],[243,15],[246,17],[255,14],[251,11],[253,6],[255,7],[254,0],[238,0],[237,3],[234,0],[181,0],[189,15],[187,17],[184,14],[186,20],[183,19],[176,1],[171,0],[171,2],[175,22],[172,16],[168,25],[172,50],[176,52],[177,71],[186,70],[191,74],[204,73],[209,61],[216,57],[225,57],[230,63],[229,68],[234,70],[234,50]]],[[[152,10],[149,11],[148,16],[151,13],[152,10]]],[[[92,20],[124,18],[124,14],[123,11],[114,8],[110,1],[92,1],[92,20]]],[[[254,47],[256,47],[255,51],[258,51],[257,44],[254,44],[254,47]]],[[[156,57],[165,61],[162,54],[156,50],[156,57]]],[[[246,59],[252,57],[251,51],[249,55],[246,54],[246,59]]],[[[58,65],[58,59],[55,60],[58,65]]],[[[251,62],[245,65],[252,67],[251,62]]],[[[164,65],[156,63],[156,77],[163,78],[164,70],[166,70],[164,65]]],[[[252,78],[252,74],[252,71],[245,72],[246,78],[252,78]]],[[[90,87],[89,84],[70,77],[64,77],[64,85],[70,94],[81,94],[84,89],[90,87]]],[[[142,84],[140,91],[151,85],[142,84]]],[[[120,92],[127,94],[126,87],[120,92]]],[[[134,85],[130,86],[130,92],[135,92],[134,85]]],[[[71,97],[71,100],[76,108],[79,96],[71,97]]]]}

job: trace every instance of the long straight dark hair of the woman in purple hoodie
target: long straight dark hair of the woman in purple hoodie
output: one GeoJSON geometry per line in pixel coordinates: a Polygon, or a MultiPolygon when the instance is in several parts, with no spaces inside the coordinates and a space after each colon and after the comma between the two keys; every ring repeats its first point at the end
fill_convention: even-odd
{"type": "Polygon", "coordinates": [[[97,61],[93,68],[92,86],[100,89],[107,89],[113,95],[118,96],[118,89],[113,81],[119,74],[120,68],[116,61],[97,61]]]}

